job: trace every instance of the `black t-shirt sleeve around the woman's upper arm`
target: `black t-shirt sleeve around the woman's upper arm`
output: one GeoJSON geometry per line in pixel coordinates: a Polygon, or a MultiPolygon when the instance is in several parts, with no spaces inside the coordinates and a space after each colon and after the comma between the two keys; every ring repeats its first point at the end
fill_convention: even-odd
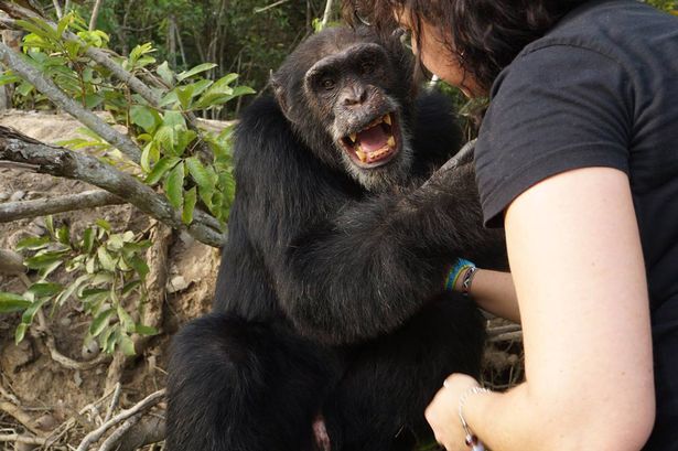
{"type": "Polygon", "coordinates": [[[485,225],[524,191],[586,167],[628,173],[632,88],[611,57],[573,45],[518,56],[497,78],[475,149],[485,225]]]}

